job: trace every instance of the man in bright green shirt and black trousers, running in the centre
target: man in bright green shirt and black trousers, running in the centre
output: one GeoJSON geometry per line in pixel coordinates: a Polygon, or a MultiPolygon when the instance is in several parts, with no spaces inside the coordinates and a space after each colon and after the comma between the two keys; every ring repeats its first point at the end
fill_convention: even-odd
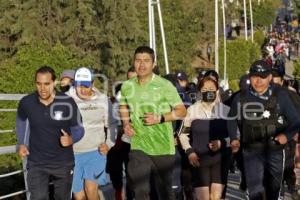
{"type": "Polygon", "coordinates": [[[152,72],[154,58],[150,47],[138,47],[134,53],[137,77],[124,82],[121,89],[121,119],[125,134],[131,136],[128,176],[137,200],[149,199],[153,174],[159,198],[174,199],[175,147],[171,121],[186,115],[176,88],[152,72]]]}

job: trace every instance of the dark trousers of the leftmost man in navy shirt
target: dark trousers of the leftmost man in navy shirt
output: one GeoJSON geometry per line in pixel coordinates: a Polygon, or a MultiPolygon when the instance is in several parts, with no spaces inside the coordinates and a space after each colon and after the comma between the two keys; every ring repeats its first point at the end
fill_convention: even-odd
{"type": "Polygon", "coordinates": [[[73,166],[30,165],[27,183],[30,200],[48,200],[49,182],[54,186],[55,200],[71,199],[73,166]]]}

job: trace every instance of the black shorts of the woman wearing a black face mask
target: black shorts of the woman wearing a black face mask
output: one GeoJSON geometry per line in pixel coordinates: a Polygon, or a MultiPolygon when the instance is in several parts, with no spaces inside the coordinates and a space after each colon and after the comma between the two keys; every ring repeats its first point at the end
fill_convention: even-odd
{"type": "Polygon", "coordinates": [[[191,167],[193,187],[210,186],[212,183],[226,184],[227,180],[227,167],[218,161],[201,160],[199,167],[191,167]],[[207,163],[205,163],[207,162],[207,163]]]}

